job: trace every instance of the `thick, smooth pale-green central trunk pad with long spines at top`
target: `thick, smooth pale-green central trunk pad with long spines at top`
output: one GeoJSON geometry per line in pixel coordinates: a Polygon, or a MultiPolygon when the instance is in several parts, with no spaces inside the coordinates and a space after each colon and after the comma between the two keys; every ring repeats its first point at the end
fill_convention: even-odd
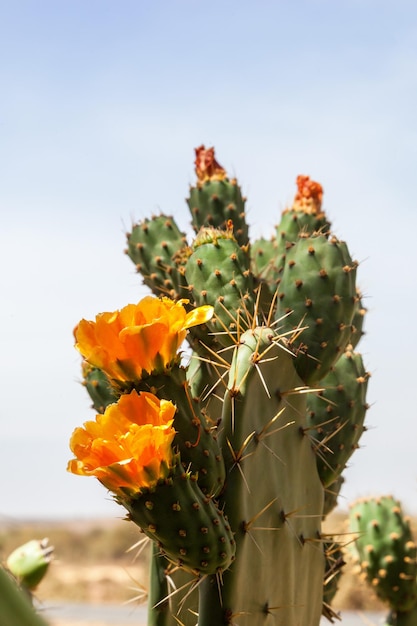
{"type": "Polygon", "coordinates": [[[219,432],[228,468],[219,503],[235,533],[236,560],[220,590],[214,578],[201,584],[199,626],[320,621],[323,488],[300,428],[300,386],[271,328],[242,335],[219,432]]]}

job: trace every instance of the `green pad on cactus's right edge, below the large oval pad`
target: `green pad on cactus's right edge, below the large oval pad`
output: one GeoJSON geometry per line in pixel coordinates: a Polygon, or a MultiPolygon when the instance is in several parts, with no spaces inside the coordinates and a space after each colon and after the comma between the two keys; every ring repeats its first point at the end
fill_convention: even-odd
{"type": "Polygon", "coordinates": [[[308,394],[309,435],[325,487],[338,479],[358,447],[368,409],[368,380],[361,355],[347,350],[321,380],[323,390],[308,394]]]}

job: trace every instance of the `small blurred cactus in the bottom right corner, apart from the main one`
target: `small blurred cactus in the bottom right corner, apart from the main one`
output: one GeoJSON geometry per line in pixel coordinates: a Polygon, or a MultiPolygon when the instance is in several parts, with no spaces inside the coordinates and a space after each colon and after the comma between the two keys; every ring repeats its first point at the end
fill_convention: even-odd
{"type": "Polygon", "coordinates": [[[392,496],[358,500],[350,508],[349,524],[362,575],[390,607],[387,624],[415,624],[417,548],[400,502],[392,496]]]}

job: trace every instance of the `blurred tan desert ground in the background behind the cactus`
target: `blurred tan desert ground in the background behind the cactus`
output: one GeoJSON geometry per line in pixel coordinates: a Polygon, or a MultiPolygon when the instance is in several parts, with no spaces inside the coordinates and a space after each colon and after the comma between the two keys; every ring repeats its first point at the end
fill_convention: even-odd
{"type": "MultiPolygon", "coordinates": [[[[324,532],[335,533],[342,543],[346,534],[346,515],[332,514],[324,532]]],[[[0,556],[7,555],[29,539],[48,537],[55,547],[55,558],[36,590],[37,602],[123,605],[146,600],[148,547],[138,545],[143,535],[121,519],[70,520],[66,522],[0,522],[0,556]]],[[[336,610],[380,611],[383,605],[355,573],[355,564],[347,564],[333,601],[336,610]]],[[[143,613],[142,613],[143,614],[143,613]]],[[[99,622],[68,621],[48,618],[50,626],[103,626],[99,622]]],[[[132,622],[130,622],[132,623],[132,622]]],[[[137,623],[137,626],[142,624],[137,623]]],[[[125,626],[120,623],[118,626],[125,626]]]]}

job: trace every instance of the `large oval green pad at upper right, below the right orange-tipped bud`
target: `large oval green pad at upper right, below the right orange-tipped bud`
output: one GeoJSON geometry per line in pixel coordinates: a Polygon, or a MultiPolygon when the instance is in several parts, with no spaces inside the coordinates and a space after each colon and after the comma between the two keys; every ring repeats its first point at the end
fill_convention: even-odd
{"type": "Polygon", "coordinates": [[[294,331],[295,367],[309,385],[326,376],[349,342],[356,267],[346,244],[324,235],[302,237],[287,252],[276,320],[281,332],[294,331]]]}

